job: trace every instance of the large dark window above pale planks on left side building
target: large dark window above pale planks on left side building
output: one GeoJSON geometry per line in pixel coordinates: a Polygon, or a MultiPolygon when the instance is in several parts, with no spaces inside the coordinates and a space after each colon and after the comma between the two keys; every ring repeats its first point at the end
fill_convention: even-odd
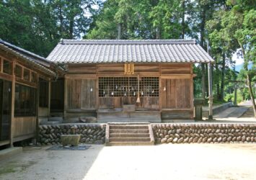
{"type": "Polygon", "coordinates": [[[15,116],[35,116],[36,89],[16,84],[15,86],[15,116]]]}

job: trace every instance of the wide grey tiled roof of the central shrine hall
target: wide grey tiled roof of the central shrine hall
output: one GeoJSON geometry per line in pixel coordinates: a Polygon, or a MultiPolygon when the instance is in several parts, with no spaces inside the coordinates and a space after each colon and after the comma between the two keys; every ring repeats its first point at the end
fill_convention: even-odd
{"type": "Polygon", "coordinates": [[[48,55],[56,63],[209,63],[195,40],[61,40],[48,55]]]}

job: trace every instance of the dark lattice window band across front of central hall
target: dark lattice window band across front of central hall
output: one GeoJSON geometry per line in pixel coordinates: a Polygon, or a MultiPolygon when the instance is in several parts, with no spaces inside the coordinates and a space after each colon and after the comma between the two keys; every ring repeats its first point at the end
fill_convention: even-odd
{"type": "MultiPolygon", "coordinates": [[[[159,96],[159,78],[143,77],[139,81],[140,96],[159,96]]],[[[100,77],[99,96],[137,96],[137,77],[100,77]]]]}

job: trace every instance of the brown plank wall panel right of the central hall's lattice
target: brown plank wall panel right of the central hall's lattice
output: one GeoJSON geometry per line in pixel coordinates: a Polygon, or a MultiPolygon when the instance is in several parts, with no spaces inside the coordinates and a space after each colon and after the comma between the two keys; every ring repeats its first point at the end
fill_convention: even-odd
{"type": "Polygon", "coordinates": [[[162,79],[162,109],[190,109],[191,88],[189,78],[162,79]]]}

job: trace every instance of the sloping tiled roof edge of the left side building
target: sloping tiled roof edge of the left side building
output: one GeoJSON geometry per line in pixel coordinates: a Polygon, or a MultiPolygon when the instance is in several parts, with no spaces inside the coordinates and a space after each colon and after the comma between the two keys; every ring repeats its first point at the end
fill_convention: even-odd
{"type": "Polygon", "coordinates": [[[52,62],[41,57],[40,55],[31,53],[30,51],[19,48],[16,45],[12,45],[9,42],[5,42],[4,40],[1,40],[1,39],[0,39],[0,48],[2,50],[6,50],[8,52],[13,53],[14,55],[17,55],[19,58],[22,58],[23,60],[26,60],[27,63],[30,63],[32,66],[40,69],[41,71],[44,71],[44,72],[49,73],[54,76],[56,75],[55,72],[51,71],[48,68],[48,67],[50,67],[50,64],[52,62]]]}

